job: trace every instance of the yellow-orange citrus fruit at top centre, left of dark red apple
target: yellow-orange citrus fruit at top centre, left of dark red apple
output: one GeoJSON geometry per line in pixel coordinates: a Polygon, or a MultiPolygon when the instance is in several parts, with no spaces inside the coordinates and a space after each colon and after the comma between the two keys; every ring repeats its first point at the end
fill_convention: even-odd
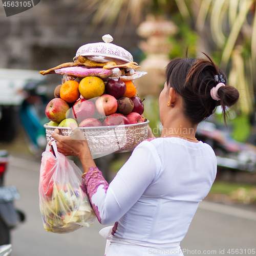
{"type": "Polygon", "coordinates": [[[104,93],[105,84],[97,76],[87,76],[80,81],[78,89],[83,98],[92,99],[104,93]]]}

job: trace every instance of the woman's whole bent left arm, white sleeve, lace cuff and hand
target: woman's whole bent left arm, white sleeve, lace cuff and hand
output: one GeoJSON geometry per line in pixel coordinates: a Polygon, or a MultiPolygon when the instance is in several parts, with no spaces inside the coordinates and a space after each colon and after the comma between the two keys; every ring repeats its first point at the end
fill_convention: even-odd
{"type": "Polygon", "coordinates": [[[155,147],[150,142],[142,142],[109,185],[96,167],[86,139],[60,136],[58,130],[52,137],[57,140],[59,152],[81,159],[86,190],[101,224],[119,220],[155,180],[161,168],[155,147]]]}

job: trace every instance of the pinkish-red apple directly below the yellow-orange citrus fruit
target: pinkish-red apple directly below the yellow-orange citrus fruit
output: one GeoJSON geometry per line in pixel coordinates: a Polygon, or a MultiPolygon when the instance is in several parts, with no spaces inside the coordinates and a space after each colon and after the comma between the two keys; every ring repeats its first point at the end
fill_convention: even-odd
{"type": "Polygon", "coordinates": [[[87,99],[80,99],[76,101],[72,108],[72,115],[77,119],[78,123],[86,118],[93,117],[96,109],[92,101],[87,99]]]}

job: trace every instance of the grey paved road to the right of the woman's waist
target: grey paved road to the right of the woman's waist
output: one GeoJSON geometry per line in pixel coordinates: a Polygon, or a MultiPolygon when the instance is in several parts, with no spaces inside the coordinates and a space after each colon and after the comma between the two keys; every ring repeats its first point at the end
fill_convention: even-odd
{"type": "Polygon", "coordinates": [[[254,249],[256,254],[256,209],[252,211],[222,204],[203,203],[199,205],[200,208],[181,243],[183,251],[187,250],[184,255],[192,255],[193,250],[200,250],[201,254],[203,251],[209,251],[206,255],[232,255],[228,253],[229,249],[230,252],[231,249],[239,249],[239,253],[234,253],[239,255],[249,255],[248,249],[254,249]],[[220,253],[220,250],[225,253],[220,253]]]}

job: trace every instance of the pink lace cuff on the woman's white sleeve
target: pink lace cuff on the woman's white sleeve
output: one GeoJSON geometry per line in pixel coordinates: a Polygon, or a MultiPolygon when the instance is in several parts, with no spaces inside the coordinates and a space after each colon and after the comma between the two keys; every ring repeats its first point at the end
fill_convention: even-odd
{"type": "Polygon", "coordinates": [[[103,185],[103,189],[106,190],[109,187],[109,183],[104,179],[102,173],[97,167],[90,167],[88,172],[82,176],[82,189],[88,195],[95,215],[98,221],[101,223],[98,207],[92,203],[92,196],[97,192],[100,185],[103,185]]]}

